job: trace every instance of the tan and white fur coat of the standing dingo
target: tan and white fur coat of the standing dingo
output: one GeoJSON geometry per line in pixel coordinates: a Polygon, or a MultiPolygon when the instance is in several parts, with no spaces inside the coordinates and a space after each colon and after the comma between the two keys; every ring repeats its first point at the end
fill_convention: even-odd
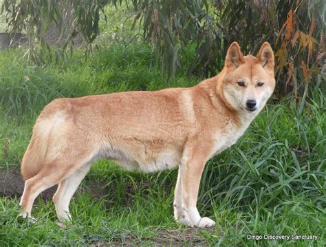
{"type": "Polygon", "coordinates": [[[257,57],[232,43],[220,74],[195,87],[123,92],[52,101],[39,116],[21,171],[23,217],[41,191],[59,184],[54,204],[69,219],[69,202],[99,158],[126,169],[152,172],[179,165],[175,219],[213,226],[196,207],[205,163],[234,144],[274,91],[274,54],[264,43],[257,57]],[[246,83],[240,87],[237,82],[246,83]],[[263,82],[262,87],[257,83],[263,82]],[[246,109],[248,100],[257,109],[246,109]]]}

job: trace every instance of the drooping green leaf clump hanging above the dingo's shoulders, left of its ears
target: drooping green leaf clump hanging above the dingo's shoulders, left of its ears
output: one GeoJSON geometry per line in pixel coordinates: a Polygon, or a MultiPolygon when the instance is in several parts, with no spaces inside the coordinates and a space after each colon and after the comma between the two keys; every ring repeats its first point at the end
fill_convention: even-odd
{"type": "Polygon", "coordinates": [[[184,67],[180,57],[201,32],[204,4],[208,10],[206,1],[133,1],[135,21],[142,17],[144,40],[151,41],[162,72],[169,76],[175,75],[177,67],[184,67]]]}

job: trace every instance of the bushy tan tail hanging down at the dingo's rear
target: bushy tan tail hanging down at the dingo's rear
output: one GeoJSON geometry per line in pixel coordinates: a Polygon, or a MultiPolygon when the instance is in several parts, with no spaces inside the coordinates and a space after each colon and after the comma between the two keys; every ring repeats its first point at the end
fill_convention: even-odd
{"type": "Polygon", "coordinates": [[[23,176],[23,180],[34,177],[43,168],[52,129],[51,125],[53,125],[53,121],[51,120],[36,121],[32,139],[21,161],[21,175],[23,176]]]}

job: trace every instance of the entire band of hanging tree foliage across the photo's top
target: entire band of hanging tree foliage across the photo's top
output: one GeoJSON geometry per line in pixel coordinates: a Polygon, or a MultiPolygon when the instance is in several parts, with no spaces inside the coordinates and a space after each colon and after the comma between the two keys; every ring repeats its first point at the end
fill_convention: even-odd
{"type": "MultiPolygon", "coordinates": [[[[34,61],[47,63],[56,58],[62,63],[78,34],[89,44],[85,50],[89,54],[100,32],[100,20],[110,18],[105,6],[121,5],[121,0],[5,0],[3,11],[8,28],[30,37],[29,54],[34,61]],[[64,19],[67,15],[70,21],[64,19]],[[44,37],[53,23],[67,37],[59,49],[51,49],[44,37]]],[[[263,41],[269,41],[276,52],[277,92],[303,96],[308,78],[314,83],[316,76],[323,74],[325,79],[325,1],[133,0],[123,6],[129,11],[133,8],[135,19],[129,21],[129,28],[140,21],[144,41],[153,46],[155,63],[162,65],[162,72],[169,77],[177,71],[214,76],[223,67],[232,41],[238,41],[246,54],[255,54],[263,41]],[[189,56],[189,50],[195,51],[195,56],[189,56]]],[[[119,25],[112,28],[118,32],[119,25]]]]}

